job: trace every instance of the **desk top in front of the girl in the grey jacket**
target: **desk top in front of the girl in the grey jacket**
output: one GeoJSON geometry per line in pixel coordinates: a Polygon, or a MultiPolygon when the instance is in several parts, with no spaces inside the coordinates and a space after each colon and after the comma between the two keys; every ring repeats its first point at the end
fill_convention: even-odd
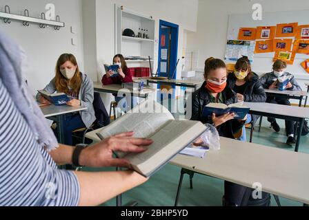
{"type": "Polygon", "coordinates": [[[56,106],[54,104],[50,104],[48,106],[41,107],[41,111],[45,118],[56,116],[56,115],[64,115],[67,113],[73,113],[77,111],[86,110],[86,107],[70,107],[67,105],[56,106]]]}

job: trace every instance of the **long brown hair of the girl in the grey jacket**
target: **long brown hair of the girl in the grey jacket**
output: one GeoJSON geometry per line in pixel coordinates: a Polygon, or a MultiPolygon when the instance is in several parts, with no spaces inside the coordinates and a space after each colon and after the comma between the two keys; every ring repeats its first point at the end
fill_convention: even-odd
{"type": "Polygon", "coordinates": [[[55,85],[57,92],[63,92],[65,94],[74,93],[79,94],[79,89],[81,89],[81,72],[79,72],[79,66],[77,65],[77,59],[73,54],[62,54],[56,65],[56,77],[55,77],[55,85]],[[76,66],[76,72],[71,80],[65,78],[61,72],[60,67],[67,61],[70,61],[74,66],[76,66]],[[70,91],[68,87],[71,87],[70,91]]]}

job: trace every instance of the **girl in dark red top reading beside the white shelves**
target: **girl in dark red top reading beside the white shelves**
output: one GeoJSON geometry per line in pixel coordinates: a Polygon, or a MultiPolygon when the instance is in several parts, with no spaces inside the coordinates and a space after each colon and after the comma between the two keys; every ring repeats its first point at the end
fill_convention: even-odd
{"type": "MultiPolygon", "coordinates": [[[[110,72],[107,72],[103,78],[102,78],[102,83],[103,85],[112,85],[112,84],[119,84],[121,85],[122,83],[132,83],[132,75],[130,74],[128,70],[128,66],[126,63],[125,58],[121,54],[117,54],[114,56],[112,59],[112,62],[114,65],[119,65],[119,76],[111,77],[112,76],[112,70],[110,72]]],[[[117,94],[113,94],[116,102],[119,104],[119,107],[123,111],[128,111],[132,109],[135,105],[137,105],[137,98],[136,97],[118,97],[117,94]],[[133,106],[130,107],[131,105],[131,98],[133,99],[133,106]],[[129,105],[129,107],[127,107],[129,105]]]]}

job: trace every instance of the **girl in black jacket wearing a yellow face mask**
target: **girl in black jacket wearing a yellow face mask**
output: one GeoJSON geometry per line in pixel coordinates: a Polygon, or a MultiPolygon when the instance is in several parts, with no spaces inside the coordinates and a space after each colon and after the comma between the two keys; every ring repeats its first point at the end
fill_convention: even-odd
{"type": "MultiPolygon", "coordinates": [[[[266,93],[259,82],[259,76],[252,72],[250,61],[247,56],[239,58],[235,65],[235,71],[228,74],[228,87],[237,93],[239,102],[265,102],[266,93]]],[[[257,121],[257,115],[247,115],[246,124],[257,121]]],[[[246,127],[239,140],[246,142],[246,127]]]]}

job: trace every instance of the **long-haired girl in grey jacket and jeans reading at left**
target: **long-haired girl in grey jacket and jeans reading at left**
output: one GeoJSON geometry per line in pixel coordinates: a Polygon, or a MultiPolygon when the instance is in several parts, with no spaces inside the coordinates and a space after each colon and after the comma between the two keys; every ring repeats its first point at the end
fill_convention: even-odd
{"type": "MultiPolygon", "coordinates": [[[[94,96],[92,80],[86,74],[79,72],[74,55],[62,54],[57,61],[56,76],[43,90],[49,94],[56,91],[67,94],[72,98],[67,102],[68,106],[87,107],[85,111],[66,115],[63,122],[64,144],[72,145],[72,131],[89,128],[96,120],[92,104],[94,96]]],[[[48,102],[40,94],[37,94],[37,100],[43,104],[48,102]]]]}

